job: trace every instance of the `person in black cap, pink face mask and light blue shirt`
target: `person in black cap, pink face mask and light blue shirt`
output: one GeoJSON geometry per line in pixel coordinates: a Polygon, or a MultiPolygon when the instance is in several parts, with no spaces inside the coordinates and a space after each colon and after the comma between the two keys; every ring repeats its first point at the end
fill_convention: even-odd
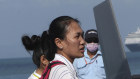
{"type": "Polygon", "coordinates": [[[74,68],[79,79],[106,79],[102,54],[99,51],[97,31],[87,30],[85,33],[86,49],[84,57],[74,60],[74,68]]]}

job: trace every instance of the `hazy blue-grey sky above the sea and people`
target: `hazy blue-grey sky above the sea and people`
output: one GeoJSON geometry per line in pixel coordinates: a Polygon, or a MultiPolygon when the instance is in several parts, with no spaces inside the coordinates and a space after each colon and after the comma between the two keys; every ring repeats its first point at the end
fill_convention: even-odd
{"type": "MultiPolygon", "coordinates": [[[[30,55],[21,43],[24,34],[41,34],[61,15],[78,18],[84,31],[96,28],[93,7],[104,0],[0,0],[0,59],[30,55]]],[[[140,27],[140,0],[112,0],[122,42],[140,27]]],[[[125,50],[128,49],[125,47],[125,50]]]]}

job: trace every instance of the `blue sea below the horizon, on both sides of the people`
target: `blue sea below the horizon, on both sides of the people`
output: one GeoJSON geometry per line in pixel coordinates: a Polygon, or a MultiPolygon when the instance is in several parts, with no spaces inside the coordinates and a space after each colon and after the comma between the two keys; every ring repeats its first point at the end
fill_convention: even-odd
{"type": "MultiPolygon", "coordinates": [[[[126,56],[131,75],[140,74],[140,52],[126,56]]],[[[0,59],[0,79],[27,79],[35,69],[31,58],[0,59]]]]}

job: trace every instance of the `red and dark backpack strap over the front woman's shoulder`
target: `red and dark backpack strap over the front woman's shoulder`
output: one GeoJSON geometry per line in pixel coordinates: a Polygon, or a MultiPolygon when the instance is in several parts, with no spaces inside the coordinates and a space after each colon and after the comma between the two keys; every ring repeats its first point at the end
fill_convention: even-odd
{"type": "Polygon", "coordinates": [[[48,79],[49,78],[49,74],[51,71],[51,68],[57,66],[57,65],[65,65],[63,62],[61,61],[52,61],[51,63],[48,64],[48,66],[46,67],[42,77],[40,79],[48,79]]]}

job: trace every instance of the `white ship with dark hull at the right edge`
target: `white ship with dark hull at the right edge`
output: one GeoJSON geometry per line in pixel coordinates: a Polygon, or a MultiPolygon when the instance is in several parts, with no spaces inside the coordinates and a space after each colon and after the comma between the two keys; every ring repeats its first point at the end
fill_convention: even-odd
{"type": "Polygon", "coordinates": [[[129,33],[125,38],[126,47],[133,52],[140,51],[140,29],[138,27],[136,32],[129,33]]]}

